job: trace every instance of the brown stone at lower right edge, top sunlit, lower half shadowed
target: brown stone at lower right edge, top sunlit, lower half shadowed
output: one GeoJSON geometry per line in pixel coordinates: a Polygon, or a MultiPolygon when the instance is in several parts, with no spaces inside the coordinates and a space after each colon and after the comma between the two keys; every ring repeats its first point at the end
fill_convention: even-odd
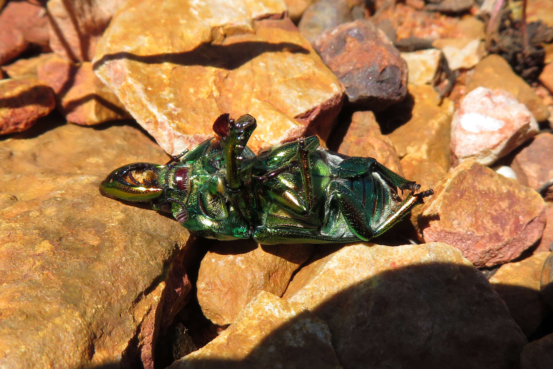
{"type": "Polygon", "coordinates": [[[546,307],[540,296],[541,269],[550,252],[540,252],[516,263],[507,263],[489,279],[489,283],[503,299],[513,320],[528,337],[542,319],[546,307]]]}

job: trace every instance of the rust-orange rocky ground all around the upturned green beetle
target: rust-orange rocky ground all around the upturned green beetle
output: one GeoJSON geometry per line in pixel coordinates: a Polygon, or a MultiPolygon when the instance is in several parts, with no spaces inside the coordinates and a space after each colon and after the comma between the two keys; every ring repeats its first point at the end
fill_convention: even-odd
{"type": "Polygon", "coordinates": [[[0,367],[553,367],[550,0],[0,8],[0,367]],[[435,194],[349,245],[100,195],[227,112],[253,150],[317,134],[435,194]]]}

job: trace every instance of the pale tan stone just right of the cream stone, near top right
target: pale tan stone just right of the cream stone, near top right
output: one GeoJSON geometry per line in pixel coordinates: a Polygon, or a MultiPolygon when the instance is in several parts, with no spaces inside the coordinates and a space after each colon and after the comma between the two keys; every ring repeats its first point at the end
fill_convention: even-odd
{"type": "Polygon", "coordinates": [[[432,46],[442,50],[451,70],[471,69],[487,54],[484,41],[478,38],[442,38],[432,46]]]}

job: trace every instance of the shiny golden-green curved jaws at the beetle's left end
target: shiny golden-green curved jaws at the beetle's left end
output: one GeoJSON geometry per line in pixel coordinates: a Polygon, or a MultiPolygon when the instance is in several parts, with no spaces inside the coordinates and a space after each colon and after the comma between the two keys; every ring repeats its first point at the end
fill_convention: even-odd
{"type": "Polygon", "coordinates": [[[164,165],[134,163],[109,173],[100,184],[100,192],[110,198],[127,201],[149,201],[163,194],[159,172],[164,165]]]}

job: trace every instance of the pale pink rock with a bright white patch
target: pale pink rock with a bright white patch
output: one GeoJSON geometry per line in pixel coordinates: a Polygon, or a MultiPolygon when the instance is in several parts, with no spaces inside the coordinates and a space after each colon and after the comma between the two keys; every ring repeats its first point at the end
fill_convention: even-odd
{"type": "Polygon", "coordinates": [[[536,133],[536,119],[509,92],[477,87],[453,115],[453,164],[471,158],[490,165],[536,133]]]}

